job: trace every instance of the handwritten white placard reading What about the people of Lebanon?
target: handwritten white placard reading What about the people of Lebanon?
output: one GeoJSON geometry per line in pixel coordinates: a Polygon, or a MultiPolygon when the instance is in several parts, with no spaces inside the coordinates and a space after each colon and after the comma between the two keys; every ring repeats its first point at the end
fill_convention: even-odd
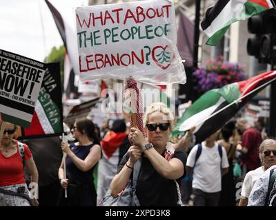
{"type": "Polygon", "coordinates": [[[185,83],[172,1],[80,7],[76,21],[82,81],[152,76],[152,83],[185,83]]]}

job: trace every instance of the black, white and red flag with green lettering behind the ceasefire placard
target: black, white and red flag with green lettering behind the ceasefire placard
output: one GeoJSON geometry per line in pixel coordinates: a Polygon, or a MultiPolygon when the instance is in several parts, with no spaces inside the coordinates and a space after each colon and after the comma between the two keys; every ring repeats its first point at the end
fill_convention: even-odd
{"type": "Polygon", "coordinates": [[[46,67],[48,70],[43,78],[32,122],[28,129],[21,129],[20,139],[61,135],[63,132],[59,64],[48,63],[46,67]]]}

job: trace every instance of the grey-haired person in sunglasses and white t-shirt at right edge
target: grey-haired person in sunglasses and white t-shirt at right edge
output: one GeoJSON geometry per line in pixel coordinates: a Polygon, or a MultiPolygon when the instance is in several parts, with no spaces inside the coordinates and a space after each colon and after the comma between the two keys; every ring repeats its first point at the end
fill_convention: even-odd
{"type": "MultiPolygon", "coordinates": [[[[264,175],[265,171],[273,165],[276,165],[276,141],[273,139],[266,139],[259,146],[259,159],[261,159],[262,166],[255,170],[246,173],[244,182],[242,184],[241,199],[239,199],[239,206],[247,206],[250,193],[253,191],[256,181],[264,175]]],[[[255,198],[253,198],[256,200],[255,198]]]]}

